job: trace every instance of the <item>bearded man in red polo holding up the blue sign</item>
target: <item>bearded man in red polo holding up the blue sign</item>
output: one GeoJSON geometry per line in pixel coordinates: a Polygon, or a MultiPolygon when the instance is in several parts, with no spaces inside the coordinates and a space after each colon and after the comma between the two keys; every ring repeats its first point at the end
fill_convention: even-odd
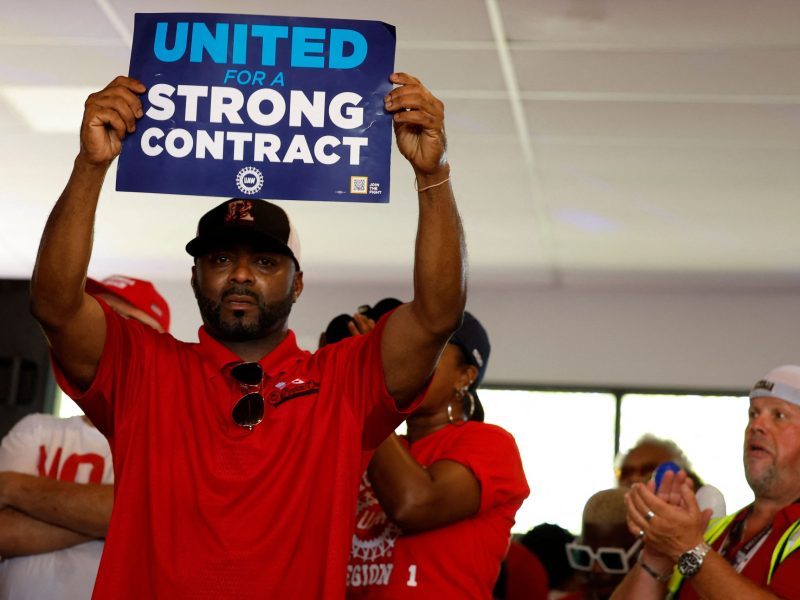
{"type": "Polygon", "coordinates": [[[81,149],[42,236],[33,313],[57,377],[114,455],[115,504],[94,597],[341,598],[364,452],[420,401],[465,303],[444,106],[394,73],[384,98],[419,194],[414,300],[369,335],[301,351],[296,232],[233,199],[187,244],[203,317],[188,344],[84,290],[103,178],[142,115],[118,77],[89,96],[81,149]]]}

